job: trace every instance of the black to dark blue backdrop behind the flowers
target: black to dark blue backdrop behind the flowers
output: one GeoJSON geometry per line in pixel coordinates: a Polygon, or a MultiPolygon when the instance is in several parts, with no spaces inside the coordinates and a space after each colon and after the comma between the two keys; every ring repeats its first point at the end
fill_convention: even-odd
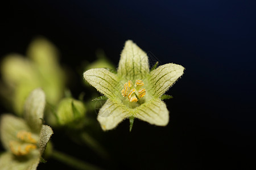
{"type": "MultiPolygon", "coordinates": [[[[61,134],[55,147],[106,169],[256,169],[255,1],[24,1],[1,5],[0,55],[25,54],[37,35],[51,40],[61,64],[76,70],[94,61],[98,48],[118,64],[126,40],[159,61],[185,67],[167,92],[167,127],[135,120],[104,133],[112,159],[70,147],[61,134]],[[70,147],[70,148],[69,148],[70,147]]],[[[70,84],[86,89],[82,75],[70,84]],[[76,84],[77,83],[77,84],[76,84]],[[74,85],[75,84],[75,85],[74,85]]],[[[3,108],[2,108],[3,109],[3,108]]],[[[3,109],[5,111],[5,109],[3,109]]],[[[68,169],[55,160],[39,169],[68,169]]]]}

